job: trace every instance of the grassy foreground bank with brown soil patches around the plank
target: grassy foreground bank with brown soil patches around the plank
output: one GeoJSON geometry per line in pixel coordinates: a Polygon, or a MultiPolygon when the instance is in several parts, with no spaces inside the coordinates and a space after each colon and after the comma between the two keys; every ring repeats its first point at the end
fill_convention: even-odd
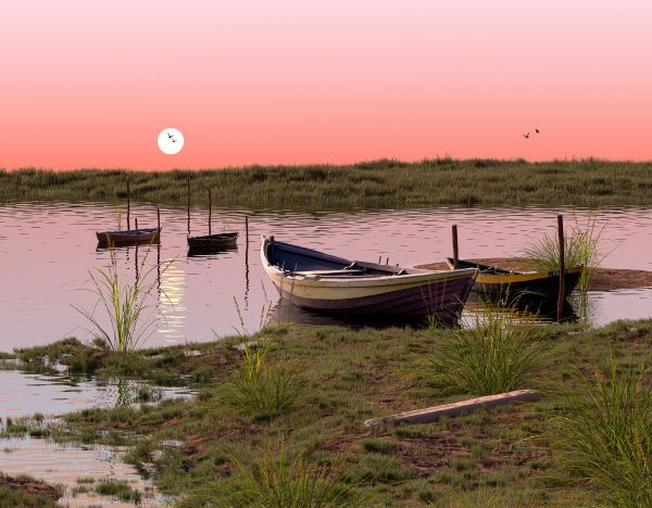
{"type": "MultiPolygon", "coordinates": [[[[491,327],[486,330],[487,338],[491,327]]],[[[652,367],[652,321],[598,330],[534,326],[525,332],[502,352],[504,334],[490,338],[485,351],[496,352],[500,366],[536,353],[536,363],[514,364],[518,376],[510,388],[538,389],[540,402],[374,429],[364,420],[481,394],[484,388],[441,382],[451,358],[457,369],[473,356],[459,354],[473,347],[468,339],[481,338],[462,340],[450,329],[278,326],[254,335],[263,346],[247,352],[234,348],[240,339],[233,338],[129,355],[68,341],[18,356],[34,369],[49,357],[103,376],[159,380],[165,371],[197,388],[195,401],[87,409],[52,431],[59,439],[128,445],[127,459],[163,492],[179,495],[180,506],[297,506],[305,499],[313,504],[301,506],[618,504],[598,473],[574,466],[574,444],[565,436],[568,428],[581,427],[576,415],[591,415],[589,396],[573,398],[585,385],[607,386],[611,374],[652,367]],[[460,344],[463,350],[455,350],[460,344]],[[560,432],[563,426],[566,432],[560,432]]],[[[487,358],[482,369],[497,366],[487,358]]],[[[642,379],[649,388],[650,377],[642,379]]],[[[624,407],[641,397],[639,388],[628,392],[624,407]]],[[[634,436],[624,433],[626,441],[652,445],[639,439],[650,432],[645,415],[637,417],[634,436]]],[[[632,482],[641,469],[637,460],[651,457],[652,446],[644,446],[632,445],[632,482]]],[[[617,453],[600,449],[606,457],[617,453]]]]}

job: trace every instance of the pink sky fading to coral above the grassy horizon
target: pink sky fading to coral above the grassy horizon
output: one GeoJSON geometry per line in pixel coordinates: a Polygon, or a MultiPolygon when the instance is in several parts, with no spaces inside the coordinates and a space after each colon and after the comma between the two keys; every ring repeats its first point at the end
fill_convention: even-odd
{"type": "Polygon", "coordinates": [[[0,167],[652,160],[651,20],[647,0],[8,1],[0,167]]]}

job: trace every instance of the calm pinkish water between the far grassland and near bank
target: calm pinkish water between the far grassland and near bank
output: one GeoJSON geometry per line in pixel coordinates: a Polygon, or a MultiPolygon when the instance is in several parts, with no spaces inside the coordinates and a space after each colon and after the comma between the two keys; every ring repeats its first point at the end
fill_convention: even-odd
{"type": "MultiPolygon", "coordinates": [[[[124,209],[124,208],[123,208],[124,209]]],[[[450,229],[457,224],[463,257],[518,255],[544,231],[554,231],[557,209],[437,208],[296,213],[286,211],[214,209],[213,231],[239,231],[238,250],[212,256],[188,257],[185,208],[162,208],[162,244],[149,251],[147,265],[156,258],[174,261],[160,275],[152,274],[155,291],[150,304],[161,319],[146,345],[208,341],[215,335],[253,332],[268,318],[264,310],[283,313],[278,296],[262,270],[260,236],[300,243],[343,257],[383,261],[403,266],[442,261],[451,254],[450,229]],[[244,241],[249,217],[249,251],[244,241]],[[248,255],[247,255],[248,252],[248,255]],[[165,296],[166,295],[166,296],[165,296]],[[239,313],[234,302],[238,301],[239,313]]],[[[652,270],[652,209],[625,208],[562,211],[567,226],[586,225],[588,217],[604,225],[603,266],[652,270]]],[[[191,233],[208,233],[208,211],[192,209],[191,233]]],[[[155,227],[155,208],[137,204],[131,220],[155,227]]],[[[86,339],[89,323],[73,305],[91,309],[96,296],[89,270],[106,268],[108,251],[97,251],[95,231],[116,229],[118,208],[103,203],[13,203],[0,206],[0,351],[46,344],[76,335],[86,339]]],[[[125,215],[122,214],[123,226],[125,215]]],[[[135,277],[135,249],[117,252],[121,271],[135,277]]],[[[590,319],[604,323],[618,318],[652,316],[652,290],[592,293],[590,319]]],[[[286,313],[310,321],[309,314],[286,313]]],[[[98,314],[101,319],[101,314],[98,314]]],[[[283,317],[283,314],[281,314],[283,317]]]]}

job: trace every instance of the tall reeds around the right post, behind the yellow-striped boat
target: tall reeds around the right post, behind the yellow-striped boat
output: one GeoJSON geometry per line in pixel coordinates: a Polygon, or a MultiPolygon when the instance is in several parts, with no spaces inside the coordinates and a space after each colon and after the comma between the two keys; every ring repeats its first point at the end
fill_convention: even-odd
{"type": "MultiPolygon", "coordinates": [[[[564,264],[566,267],[584,266],[577,284],[581,294],[587,293],[591,274],[602,261],[600,237],[604,226],[604,224],[600,225],[595,217],[590,217],[585,227],[576,220],[575,226],[564,231],[564,264]]],[[[522,253],[537,269],[559,270],[560,268],[560,242],[556,232],[544,233],[539,240],[526,246],[522,253]]]]}

